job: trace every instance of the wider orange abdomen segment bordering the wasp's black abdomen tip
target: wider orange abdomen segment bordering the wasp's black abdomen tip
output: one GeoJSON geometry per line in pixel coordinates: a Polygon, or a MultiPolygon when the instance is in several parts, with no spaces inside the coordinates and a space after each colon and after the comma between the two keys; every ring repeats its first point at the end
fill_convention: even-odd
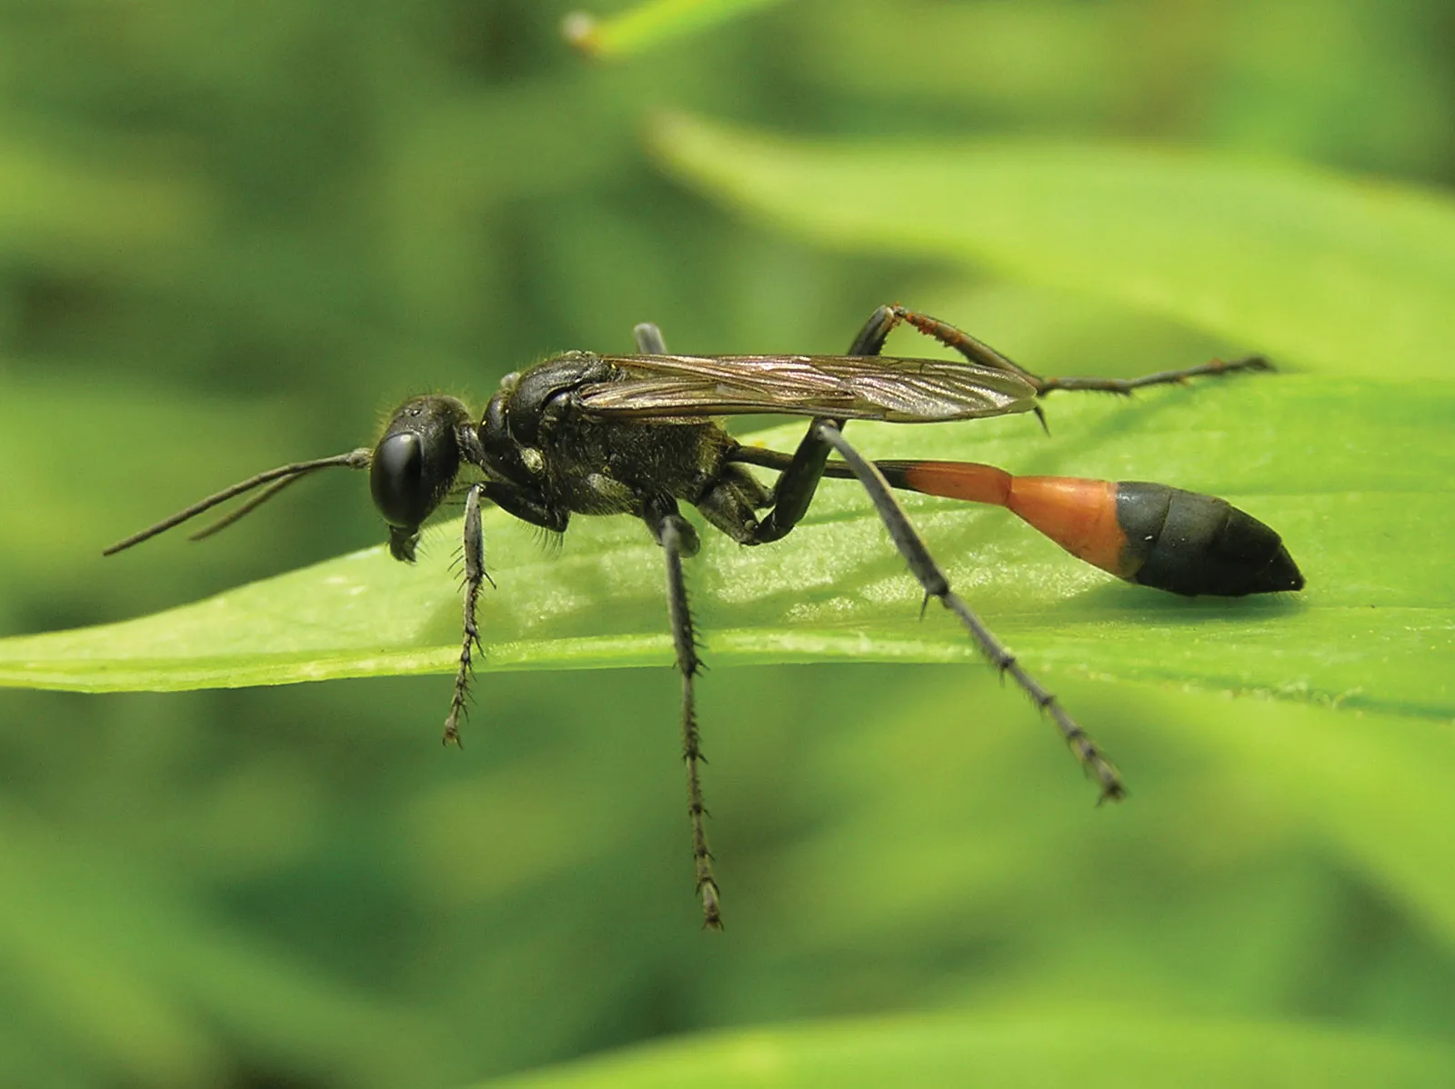
{"type": "Polygon", "coordinates": [[[1141,566],[1128,554],[1116,519],[1116,484],[1080,477],[1013,477],[1005,503],[1026,522],[1080,560],[1117,579],[1141,566]]]}

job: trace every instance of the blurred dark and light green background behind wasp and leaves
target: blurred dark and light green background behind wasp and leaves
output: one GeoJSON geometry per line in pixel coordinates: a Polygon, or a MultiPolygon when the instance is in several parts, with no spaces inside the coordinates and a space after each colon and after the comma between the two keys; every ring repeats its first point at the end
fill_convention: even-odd
{"type": "MultiPolygon", "coordinates": [[[[1455,180],[1443,0],[749,7],[598,61],[563,44],[565,4],[525,0],[0,9],[0,634],[372,544],[356,481],[317,481],[207,548],[97,555],[220,484],[367,441],[404,394],[479,403],[551,350],[626,349],[642,320],[684,350],[834,352],[902,300],[1052,374],[1219,346],[733,215],[653,166],[661,109],[1455,180]]],[[[946,1012],[1059,1025],[1090,1067],[1091,1010],[1440,1051],[1451,858],[1362,819],[1419,823],[1436,794],[1404,776],[1449,768],[1448,736],[1051,679],[1115,724],[1131,804],[1093,813],[988,670],[709,673],[722,936],[697,931],[665,667],[483,676],[463,755],[435,744],[442,678],[0,692],[0,1080],[448,1086],[700,1029],[946,1012]],[[1320,795],[1304,753],[1260,763],[1285,728],[1387,789],[1320,795]]],[[[1308,1083],[1360,1069],[1299,1058],[1304,1040],[1308,1083]]],[[[1186,1083],[1167,1061],[1120,1083],[1186,1083]]]]}

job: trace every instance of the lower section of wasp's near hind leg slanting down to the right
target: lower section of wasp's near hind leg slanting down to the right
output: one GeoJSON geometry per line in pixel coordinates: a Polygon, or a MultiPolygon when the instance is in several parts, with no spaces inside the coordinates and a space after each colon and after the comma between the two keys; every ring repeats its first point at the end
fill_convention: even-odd
{"type": "Polygon", "coordinates": [[[869,497],[874,503],[874,509],[879,512],[879,518],[883,521],[885,528],[889,531],[890,539],[895,542],[895,548],[905,558],[909,570],[914,573],[915,579],[924,587],[925,599],[937,598],[940,603],[950,609],[960,622],[965,624],[966,631],[969,631],[970,638],[975,640],[975,646],[979,647],[981,653],[989,659],[991,664],[995,666],[1002,675],[1008,673],[1011,679],[1020,685],[1021,691],[1032,698],[1032,701],[1056,724],[1061,730],[1061,736],[1067,740],[1071,752],[1075,753],[1077,760],[1081,766],[1091,775],[1097,784],[1101,787],[1101,798],[1116,801],[1126,794],[1126,788],[1122,785],[1122,776],[1117,773],[1116,768],[1106,759],[1097,744],[1091,740],[1085,730],[1083,730],[1077,721],[1061,707],[1056,698],[1048,692],[1040,683],[1030,676],[1016,656],[1001,646],[1000,640],[991,634],[991,630],[976,616],[970,608],[960,600],[950,589],[950,582],[940,566],[930,555],[930,551],[924,547],[924,541],[920,539],[920,534],[909,523],[909,518],[901,509],[899,503],[895,502],[893,493],[889,490],[889,483],[885,480],[883,474],[874,467],[872,461],[867,461],[858,451],[848,445],[844,436],[832,425],[816,422],[815,430],[825,443],[834,448],[834,451],[848,464],[858,477],[858,483],[864,486],[869,497]]]}

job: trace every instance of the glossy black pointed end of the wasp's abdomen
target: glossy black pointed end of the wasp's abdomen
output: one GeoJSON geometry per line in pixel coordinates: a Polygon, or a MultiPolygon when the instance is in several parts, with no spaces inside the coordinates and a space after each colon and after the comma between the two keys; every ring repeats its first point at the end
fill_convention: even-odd
{"type": "Polygon", "coordinates": [[[1241,598],[1304,589],[1304,576],[1269,526],[1224,499],[1120,481],[1116,521],[1126,535],[1128,577],[1196,596],[1241,598]]]}

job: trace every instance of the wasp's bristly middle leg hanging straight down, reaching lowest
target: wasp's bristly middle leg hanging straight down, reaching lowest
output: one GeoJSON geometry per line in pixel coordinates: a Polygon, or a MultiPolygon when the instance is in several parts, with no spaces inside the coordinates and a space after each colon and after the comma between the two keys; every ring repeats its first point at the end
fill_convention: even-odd
{"type": "Polygon", "coordinates": [[[703,804],[703,784],[698,771],[703,758],[697,733],[697,704],[693,698],[693,678],[703,667],[697,656],[697,634],[693,630],[693,612],[687,605],[687,583],[682,579],[682,557],[695,555],[697,531],[682,518],[672,499],[656,499],[646,505],[645,519],[652,537],[662,545],[666,560],[666,614],[672,627],[672,646],[677,651],[677,669],[682,675],[682,763],[687,765],[687,814],[693,821],[693,868],[697,877],[697,894],[703,899],[703,926],[720,931],[722,907],[717,896],[717,880],[713,877],[713,855],[707,849],[707,807],[703,804]]]}

